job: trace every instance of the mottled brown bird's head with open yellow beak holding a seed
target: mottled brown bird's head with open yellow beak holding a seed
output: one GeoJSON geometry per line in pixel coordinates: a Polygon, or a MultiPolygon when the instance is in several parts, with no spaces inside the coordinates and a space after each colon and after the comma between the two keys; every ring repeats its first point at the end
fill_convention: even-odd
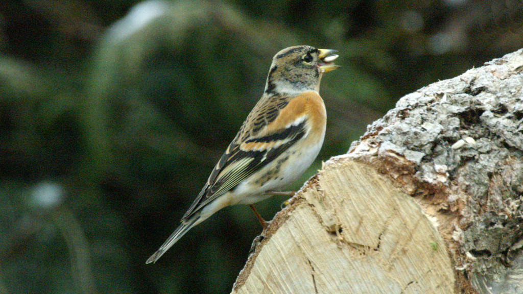
{"type": "Polygon", "coordinates": [[[336,50],[294,46],[276,53],[270,66],[265,92],[301,93],[319,91],[323,73],[339,67],[332,63],[336,50]]]}

